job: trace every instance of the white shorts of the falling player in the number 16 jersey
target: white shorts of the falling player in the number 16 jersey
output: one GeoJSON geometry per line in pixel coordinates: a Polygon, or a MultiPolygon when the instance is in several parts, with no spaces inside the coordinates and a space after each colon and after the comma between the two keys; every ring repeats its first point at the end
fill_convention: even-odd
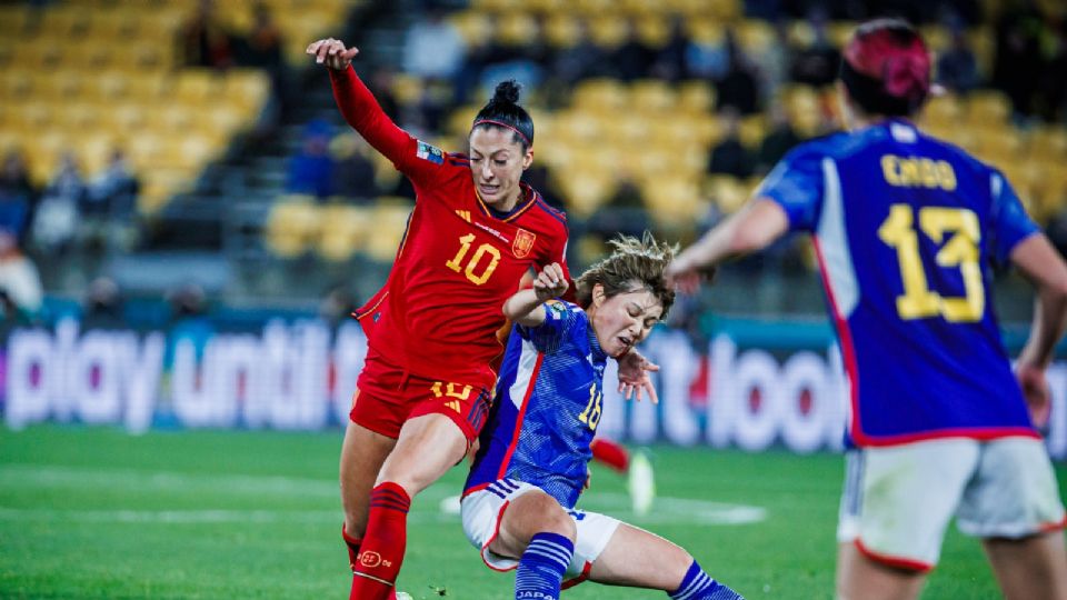
{"type": "MultiPolygon", "coordinates": [[[[489,550],[489,543],[500,531],[500,520],[508,504],[523,493],[539,489],[522,481],[500,479],[490,483],[488,488],[463,498],[460,503],[463,533],[475,548],[481,550],[481,560],[490,569],[510,571],[519,566],[518,559],[501,557],[489,550]]],[[[592,568],[594,561],[607,548],[608,541],[620,524],[619,520],[596,512],[581,510],[567,512],[575,521],[578,538],[575,540],[575,557],[570,560],[570,567],[564,576],[567,579],[564,582],[565,588],[580,583],[589,577],[589,569],[592,568]]]]}

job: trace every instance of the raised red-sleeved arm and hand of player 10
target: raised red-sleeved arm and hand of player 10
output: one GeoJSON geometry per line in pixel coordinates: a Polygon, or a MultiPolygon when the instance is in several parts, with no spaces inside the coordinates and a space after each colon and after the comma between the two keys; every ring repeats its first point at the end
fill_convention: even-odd
{"type": "Polygon", "coordinates": [[[359,53],[359,49],[346,48],[341,40],[327,38],[312,42],[306,52],[313,56],[316,62],[329,68],[333,99],[348,124],[375,150],[398,167],[402,164],[412,139],[381,110],[373,94],[352,69],[352,59],[359,53]]]}

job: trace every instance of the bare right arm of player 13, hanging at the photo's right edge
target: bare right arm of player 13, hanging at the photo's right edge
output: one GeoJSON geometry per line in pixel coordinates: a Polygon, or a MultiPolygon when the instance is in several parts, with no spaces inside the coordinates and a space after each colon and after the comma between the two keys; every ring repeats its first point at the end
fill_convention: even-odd
{"type": "Polygon", "coordinates": [[[1016,363],[1016,376],[1030,418],[1041,427],[1048,421],[1049,410],[1045,369],[1067,329],[1067,264],[1041,233],[1019,242],[1011,251],[1011,262],[1037,288],[1030,337],[1016,363]]]}

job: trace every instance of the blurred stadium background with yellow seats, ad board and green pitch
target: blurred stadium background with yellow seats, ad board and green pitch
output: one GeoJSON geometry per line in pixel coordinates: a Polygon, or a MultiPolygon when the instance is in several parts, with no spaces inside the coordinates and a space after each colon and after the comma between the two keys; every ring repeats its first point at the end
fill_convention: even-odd
{"type": "MultiPolygon", "coordinates": [[[[567,210],[579,271],[616,231],[692,240],[791,143],[835,130],[837,49],[889,13],[938,52],[947,93],[924,126],[1003,168],[1067,248],[1055,0],[0,1],[0,229],[18,243],[0,258],[0,596],[343,589],[335,466],[363,349],[345,317],[383,281],[412,199],[342,127],[310,41],[358,46],[387,111],[446,150],[493,82],[522,82],[529,177],[567,210]]],[[[647,344],[664,401],[609,397],[601,422],[652,444],[660,520],[628,514],[608,472],[587,499],[750,598],[832,581],[844,409],[811,270],[787,240],[678,306],[647,344]],[[738,513],[759,518],[724,524],[738,513]]],[[[1017,349],[1028,287],[997,287],[1017,349]]],[[[1050,380],[1061,461],[1061,363],[1050,380]]],[[[436,506],[460,477],[416,502],[417,598],[507,593],[436,506]]],[[[951,533],[946,560],[927,597],[996,596],[975,544],[951,533]]],[[[611,596],[586,588],[569,596],[611,596]]]]}

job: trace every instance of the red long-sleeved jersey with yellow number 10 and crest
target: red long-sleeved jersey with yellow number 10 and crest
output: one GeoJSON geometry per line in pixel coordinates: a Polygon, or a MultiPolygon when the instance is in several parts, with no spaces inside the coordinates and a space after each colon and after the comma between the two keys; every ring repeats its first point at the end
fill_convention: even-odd
{"type": "Polygon", "coordinates": [[[478,197],[466,156],[398,128],[351,68],[330,71],[348,123],[415,186],[416,206],[386,286],[357,311],[368,343],[421,377],[483,376],[502,352],[502,307],[529,269],[567,278],[567,221],[521,184],[516,208],[495,214],[478,197]],[[369,321],[369,322],[368,322],[369,321]]]}

